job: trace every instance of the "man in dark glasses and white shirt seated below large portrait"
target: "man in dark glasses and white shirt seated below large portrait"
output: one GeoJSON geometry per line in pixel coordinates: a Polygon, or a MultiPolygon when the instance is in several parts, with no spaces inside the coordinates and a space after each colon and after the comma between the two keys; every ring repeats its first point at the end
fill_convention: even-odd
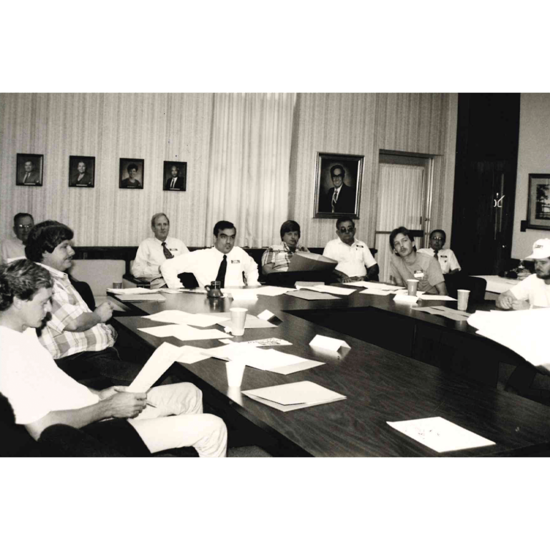
{"type": "Polygon", "coordinates": [[[355,238],[355,223],[351,218],[338,218],[336,234],[338,239],[328,241],[323,256],[338,262],[334,270],[340,283],[351,281],[378,281],[378,264],[368,246],[355,238]]]}

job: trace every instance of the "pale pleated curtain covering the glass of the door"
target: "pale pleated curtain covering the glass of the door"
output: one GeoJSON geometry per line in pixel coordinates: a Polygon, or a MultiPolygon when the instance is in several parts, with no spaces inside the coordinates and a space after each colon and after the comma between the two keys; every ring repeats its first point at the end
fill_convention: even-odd
{"type": "MultiPolygon", "coordinates": [[[[396,227],[421,229],[424,202],[424,168],[405,164],[380,164],[378,177],[377,231],[392,231],[396,227]]],[[[389,281],[389,235],[376,235],[380,280],[389,281]]],[[[419,246],[419,243],[416,243],[419,246]]]]}

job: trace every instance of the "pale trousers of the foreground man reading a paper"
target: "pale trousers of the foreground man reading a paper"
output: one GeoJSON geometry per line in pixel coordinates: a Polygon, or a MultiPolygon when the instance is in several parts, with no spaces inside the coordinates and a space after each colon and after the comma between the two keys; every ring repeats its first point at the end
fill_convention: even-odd
{"type": "Polygon", "coordinates": [[[223,457],[227,451],[227,428],[223,420],[202,414],[202,392],[182,382],[157,386],[147,393],[147,405],[128,419],[151,453],[178,447],[195,447],[201,458],[223,457]]]}

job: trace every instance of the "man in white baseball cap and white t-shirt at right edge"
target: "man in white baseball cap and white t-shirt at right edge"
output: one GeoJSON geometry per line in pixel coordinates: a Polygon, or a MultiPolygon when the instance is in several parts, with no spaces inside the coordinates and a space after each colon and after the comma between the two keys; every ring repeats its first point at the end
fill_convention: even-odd
{"type": "Polygon", "coordinates": [[[497,306],[502,309],[550,307],[550,239],[538,239],[533,253],[526,260],[535,260],[535,273],[515,287],[500,294],[497,306]],[[525,303],[529,300],[529,305],[525,303]]]}

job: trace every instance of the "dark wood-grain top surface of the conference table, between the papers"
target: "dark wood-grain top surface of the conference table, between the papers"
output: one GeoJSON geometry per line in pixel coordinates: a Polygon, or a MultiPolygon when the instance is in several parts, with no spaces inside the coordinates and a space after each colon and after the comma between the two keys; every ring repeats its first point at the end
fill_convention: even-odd
{"type": "MultiPolygon", "coordinates": [[[[201,294],[166,294],[162,303],[134,303],[136,312],[153,313],[166,309],[188,312],[224,312],[229,307],[244,306],[257,315],[268,309],[282,324],[276,328],[246,329],[244,342],[277,337],[289,340],[283,352],[323,361],[325,364],[292,375],[246,367],[240,389],[254,389],[276,384],[309,380],[347,399],[289,412],[281,412],[241,395],[239,389],[228,388],[225,362],[208,358],[193,365],[182,365],[197,382],[227,400],[227,404],[257,426],[280,437],[293,455],[312,456],[441,456],[387,425],[387,421],[442,416],[496,445],[448,453],[450,456],[533,455],[543,452],[550,443],[548,409],[541,404],[499,390],[480,386],[453,373],[420,361],[409,359],[376,345],[363,342],[320,324],[306,321],[293,311],[326,310],[337,307],[384,307],[403,315],[422,316],[422,320],[445,326],[448,319],[414,312],[410,306],[395,304],[393,296],[359,294],[340,300],[307,301],[293,296],[259,296],[257,301],[234,301],[231,298],[211,299],[201,294]],[[339,353],[322,352],[309,342],[316,334],[344,339],[350,350],[339,353]]],[[[433,302],[431,304],[438,304],[433,302]]],[[[445,305],[453,304],[447,302],[445,305]]],[[[143,313],[141,313],[143,315],[143,313]]],[[[116,322],[138,335],[144,342],[157,347],[163,341],[175,345],[195,345],[211,348],[222,345],[218,340],[181,342],[173,337],[157,338],[139,328],[157,326],[142,317],[117,317],[116,322]]],[[[470,331],[467,323],[458,329],[470,331]]],[[[399,338],[399,334],[395,334],[399,338]]]]}

